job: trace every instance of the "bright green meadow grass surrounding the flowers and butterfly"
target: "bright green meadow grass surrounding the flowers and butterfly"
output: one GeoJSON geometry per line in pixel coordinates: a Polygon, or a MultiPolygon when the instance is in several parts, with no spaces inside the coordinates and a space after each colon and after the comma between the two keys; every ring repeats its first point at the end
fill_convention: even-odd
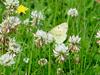
{"type": "MultiPolygon", "coordinates": [[[[67,11],[70,8],[77,8],[79,16],[69,18],[68,37],[70,35],[80,35],[80,63],[75,64],[72,56],[63,64],[55,62],[53,56],[53,45],[44,45],[42,48],[36,48],[33,43],[33,32],[27,31],[30,27],[20,25],[16,33],[11,34],[21,45],[22,52],[16,58],[16,64],[11,67],[0,65],[0,75],[56,75],[58,67],[63,68],[63,75],[100,75],[100,46],[96,44],[95,35],[100,29],[100,3],[94,0],[19,0],[21,4],[28,7],[29,10],[21,19],[30,17],[32,10],[39,10],[44,13],[46,19],[39,29],[49,31],[54,26],[67,22],[67,11]],[[95,18],[94,18],[95,17],[95,18]],[[29,63],[23,62],[24,57],[29,57],[29,63]],[[40,58],[47,58],[48,64],[41,67],[38,65],[40,58]],[[95,68],[94,68],[95,67],[95,68]]],[[[0,2],[0,22],[2,22],[2,13],[5,6],[0,2]]],[[[67,38],[68,40],[68,38],[67,38]]]]}

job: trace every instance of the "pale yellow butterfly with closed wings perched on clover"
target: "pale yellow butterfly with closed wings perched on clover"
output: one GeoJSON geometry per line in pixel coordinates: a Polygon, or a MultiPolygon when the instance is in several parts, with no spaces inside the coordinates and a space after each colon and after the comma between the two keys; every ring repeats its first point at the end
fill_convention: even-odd
{"type": "Polygon", "coordinates": [[[57,25],[49,31],[53,35],[54,41],[57,44],[63,43],[67,38],[68,24],[66,22],[57,25]]]}

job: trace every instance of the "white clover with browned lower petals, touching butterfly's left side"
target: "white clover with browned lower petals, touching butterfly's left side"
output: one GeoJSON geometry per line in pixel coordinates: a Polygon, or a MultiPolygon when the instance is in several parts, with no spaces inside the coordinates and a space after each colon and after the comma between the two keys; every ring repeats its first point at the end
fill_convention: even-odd
{"type": "Polygon", "coordinates": [[[35,44],[37,47],[42,47],[43,44],[48,44],[53,42],[53,36],[50,33],[47,33],[43,30],[37,30],[36,34],[34,34],[37,39],[35,40],[35,44]]]}

